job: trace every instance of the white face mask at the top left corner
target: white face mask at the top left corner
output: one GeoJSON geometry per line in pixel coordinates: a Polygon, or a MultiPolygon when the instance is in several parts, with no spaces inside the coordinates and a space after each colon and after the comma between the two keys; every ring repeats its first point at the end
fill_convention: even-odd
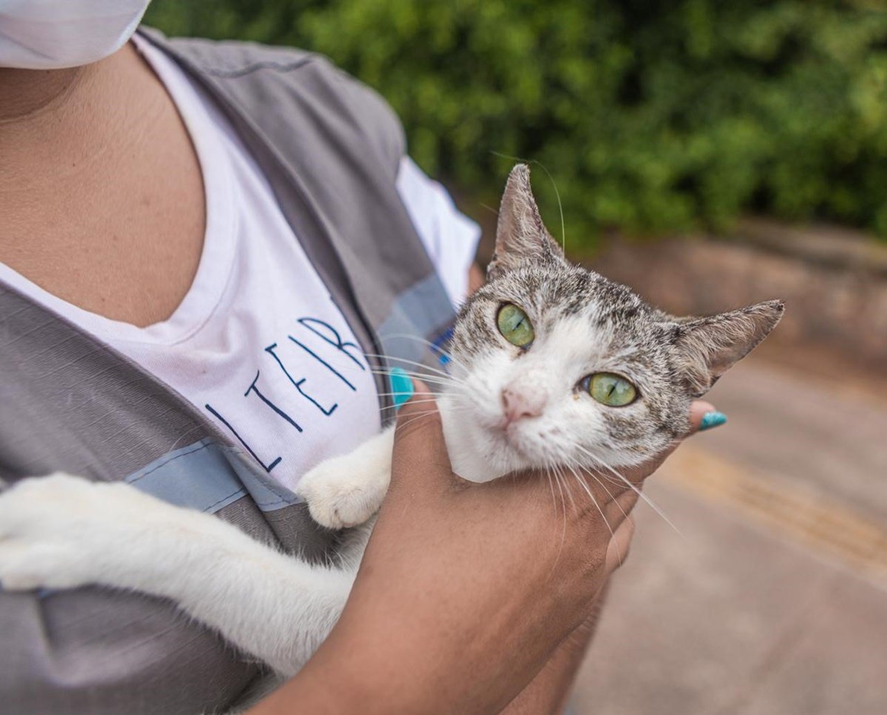
{"type": "Polygon", "coordinates": [[[88,65],[119,50],[151,0],[0,0],[0,67],[88,65]]]}

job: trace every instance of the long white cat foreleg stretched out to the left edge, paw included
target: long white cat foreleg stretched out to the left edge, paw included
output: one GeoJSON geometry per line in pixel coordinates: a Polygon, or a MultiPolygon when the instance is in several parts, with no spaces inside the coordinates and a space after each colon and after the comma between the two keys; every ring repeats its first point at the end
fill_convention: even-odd
{"type": "Polygon", "coordinates": [[[6,590],[98,584],[164,596],[284,675],[326,638],[354,574],[303,563],[123,483],[58,474],[0,494],[6,590]]]}

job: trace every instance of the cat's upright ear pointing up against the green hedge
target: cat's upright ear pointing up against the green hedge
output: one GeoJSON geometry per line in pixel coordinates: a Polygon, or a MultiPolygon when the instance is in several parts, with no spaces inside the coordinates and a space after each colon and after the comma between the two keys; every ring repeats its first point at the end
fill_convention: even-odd
{"type": "Polygon", "coordinates": [[[530,167],[518,164],[508,175],[499,204],[496,252],[487,266],[492,279],[521,264],[548,261],[566,263],[561,246],[548,233],[530,186],[530,167]]]}

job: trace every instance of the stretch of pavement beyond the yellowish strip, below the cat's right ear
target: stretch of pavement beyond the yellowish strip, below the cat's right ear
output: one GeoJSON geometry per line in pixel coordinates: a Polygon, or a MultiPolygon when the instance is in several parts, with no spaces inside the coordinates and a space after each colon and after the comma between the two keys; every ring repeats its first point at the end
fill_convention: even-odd
{"type": "Polygon", "coordinates": [[[700,446],[887,523],[887,395],[873,382],[837,365],[813,376],[752,354],[710,392],[731,422],[700,446]]]}

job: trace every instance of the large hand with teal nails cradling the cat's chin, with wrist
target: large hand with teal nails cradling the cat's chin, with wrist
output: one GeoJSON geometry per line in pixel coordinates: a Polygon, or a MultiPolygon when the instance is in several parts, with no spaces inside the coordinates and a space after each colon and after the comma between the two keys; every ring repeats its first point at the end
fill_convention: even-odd
{"type": "MultiPolygon", "coordinates": [[[[544,474],[468,484],[451,470],[427,388],[415,386],[418,399],[398,416],[389,494],[339,624],[256,713],[295,702],[318,712],[501,711],[589,617],[627,554],[632,488],[616,491],[597,475],[587,485],[600,511],[578,499],[576,509],[555,510],[544,474]]],[[[691,432],[712,410],[694,403],[691,432]]],[[[640,486],[666,455],[626,477],[640,486]]]]}

